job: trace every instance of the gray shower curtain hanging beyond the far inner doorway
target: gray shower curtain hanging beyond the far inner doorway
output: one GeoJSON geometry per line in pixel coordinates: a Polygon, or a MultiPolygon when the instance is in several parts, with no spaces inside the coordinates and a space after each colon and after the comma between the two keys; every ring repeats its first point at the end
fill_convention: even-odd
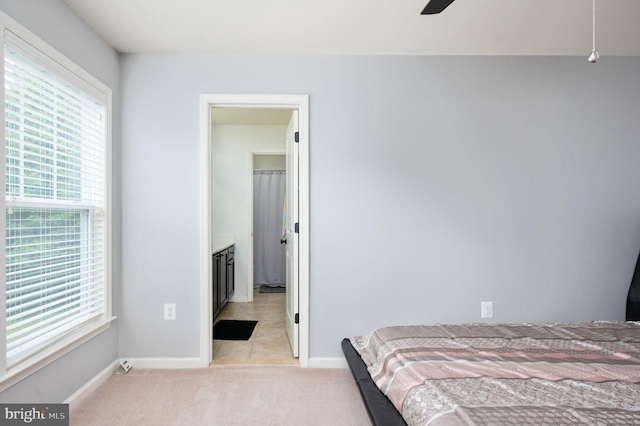
{"type": "Polygon", "coordinates": [[[253,172],[253,285],[285,285],[286,247],[282,237],[284,171],[253,172]]]}

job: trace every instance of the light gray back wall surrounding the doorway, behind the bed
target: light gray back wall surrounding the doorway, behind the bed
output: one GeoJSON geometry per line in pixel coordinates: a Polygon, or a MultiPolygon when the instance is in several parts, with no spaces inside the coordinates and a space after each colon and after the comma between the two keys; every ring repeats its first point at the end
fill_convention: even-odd
{"type": "Polygon", "coordinates": [[[308,93],[310,356],[387,324],[623,319],[640,58],[121,56],[121,353],[198,356],[198,96],[308,93]],[[162,304],[177,303],[176,321],[162,304]]]}

